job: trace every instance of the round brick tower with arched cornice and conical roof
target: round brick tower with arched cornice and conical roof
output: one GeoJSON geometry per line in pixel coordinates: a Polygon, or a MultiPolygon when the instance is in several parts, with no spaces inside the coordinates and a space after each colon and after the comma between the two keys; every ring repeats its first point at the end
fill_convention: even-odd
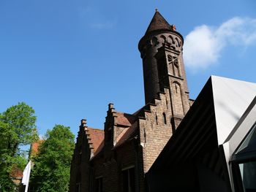
{"type": "Polygon", "coordinates": [[[184,39],[156,9],[146,34],[140,39],[146,104],[167,88],[172,126],[176,128],[189,110],[189,91],[184,69],[184,39]]]}

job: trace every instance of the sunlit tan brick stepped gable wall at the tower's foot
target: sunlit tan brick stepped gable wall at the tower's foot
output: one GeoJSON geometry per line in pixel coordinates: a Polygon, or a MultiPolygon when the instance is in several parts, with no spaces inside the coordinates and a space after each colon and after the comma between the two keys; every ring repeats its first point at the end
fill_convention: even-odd
{"type": "Polygon", "coordinates": [[[160,93],[159,99],[155,99],[154,102],[155,104],[150,106],[150,111],[145,112],[145,119],[139,120],[144,172],[148,172],[173,134],[168,89],[165,89],[165,93],[160,93]]]}

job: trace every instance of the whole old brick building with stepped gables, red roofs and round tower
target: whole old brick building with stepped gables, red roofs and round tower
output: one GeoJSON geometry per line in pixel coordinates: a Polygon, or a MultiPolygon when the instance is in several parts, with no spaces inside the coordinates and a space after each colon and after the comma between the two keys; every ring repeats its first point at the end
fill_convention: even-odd
{"type": "Polygon", "coordinates": [[[109,104],[104,130],[81,120],[69,191],[147,191],[146,172],[192,105],[183,43],[156,10],[138,45],[146,104],[133,114],[109,104]]]}

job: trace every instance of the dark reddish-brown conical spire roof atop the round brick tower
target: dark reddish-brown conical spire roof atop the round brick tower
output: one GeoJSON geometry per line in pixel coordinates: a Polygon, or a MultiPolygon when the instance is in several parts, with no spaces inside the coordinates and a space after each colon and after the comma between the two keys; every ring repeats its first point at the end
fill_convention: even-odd
{"type": "Polygon", "coordinates": [[[148,26],[146,34],[150,34],[152,31],[159,31],[159,30],[173,31],[173,28],[165,20],[165,18],[162,17],[162,15],[159,13],[158,9],[156,9],[156,12],[154,13],[154,17],[152,18],[152,20],[148,26]]]}

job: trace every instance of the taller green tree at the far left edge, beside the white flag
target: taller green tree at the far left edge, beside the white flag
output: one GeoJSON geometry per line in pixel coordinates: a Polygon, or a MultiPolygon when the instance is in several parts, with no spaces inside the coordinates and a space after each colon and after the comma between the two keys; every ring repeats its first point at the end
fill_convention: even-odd
{"type": "Polygon", "coordinates": [[[26,166],[26,158],[20,147],[30,144],[37,137],[36,120],[34,110],[24,102],[0,113],[1,191],[13,191],[15,186],[10,177],[12,170],[26,166]]]}

